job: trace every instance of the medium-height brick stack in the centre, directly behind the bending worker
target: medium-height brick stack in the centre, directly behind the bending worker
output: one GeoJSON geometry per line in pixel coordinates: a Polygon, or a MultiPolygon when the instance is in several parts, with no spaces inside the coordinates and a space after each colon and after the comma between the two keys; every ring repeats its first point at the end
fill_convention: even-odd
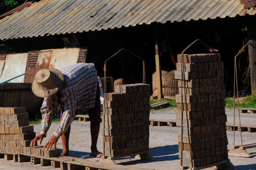
{"type": "Polygon", "coordinates": [[[104,156],[148,152],[150,85],[116,85],[104,96],[104,156]]]}

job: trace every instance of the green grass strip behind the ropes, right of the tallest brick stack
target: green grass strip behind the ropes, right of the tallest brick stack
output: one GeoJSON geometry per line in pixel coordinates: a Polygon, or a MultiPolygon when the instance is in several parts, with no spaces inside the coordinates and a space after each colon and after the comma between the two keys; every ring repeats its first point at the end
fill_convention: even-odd
{"type": "MultiPolygon", "coordinates": [[[[227,97],[225,99],[226,108],[233,108],[234,107],[234,99],[232,97],[227,97]]],[[[237,101],[235,104],[237,108],[237,101]]],[[[246,96],[239,99],[239,107],[240,108],[256,108],[256,98],[253,96],[246,96]]]]}

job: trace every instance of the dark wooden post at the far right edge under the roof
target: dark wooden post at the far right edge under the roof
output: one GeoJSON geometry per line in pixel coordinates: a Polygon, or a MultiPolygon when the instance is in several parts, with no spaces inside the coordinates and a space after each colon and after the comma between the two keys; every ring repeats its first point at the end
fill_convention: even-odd
{"type": "MultiPolygon", "coordinates": [[[[255,18],[254,18],[255,19],[255,18]]],[[[248,54],[250,58],[252,95],[256,97],[256,24],[252,17],[248,18],[248,54]]]]}

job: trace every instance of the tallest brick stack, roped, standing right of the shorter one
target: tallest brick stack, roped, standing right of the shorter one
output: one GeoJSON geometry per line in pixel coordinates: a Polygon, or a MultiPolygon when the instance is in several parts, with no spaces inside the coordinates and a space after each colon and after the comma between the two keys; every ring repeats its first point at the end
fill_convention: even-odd
{"type": "Polygon", "coordinates": [[[184,78],[182,56],[178,55],[176,119],[182,166],[192,167],[191,161],[193,167],[202,167],[227,160],[224,67],[220,55],[184,55],[183,66],[184,78]]]}

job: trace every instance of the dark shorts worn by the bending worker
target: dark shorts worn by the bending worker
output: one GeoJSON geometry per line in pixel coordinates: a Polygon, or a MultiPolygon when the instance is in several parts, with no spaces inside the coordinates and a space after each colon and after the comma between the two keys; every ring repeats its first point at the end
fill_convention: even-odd
{"type": "Polygon", "coordinates": [[[97,87],[96,99],[95,99],[95,106],[94,108],[88,109],[90,121],[92,125],[99,125],[101,118],[100,118],[100,87],[97,87]]]}

